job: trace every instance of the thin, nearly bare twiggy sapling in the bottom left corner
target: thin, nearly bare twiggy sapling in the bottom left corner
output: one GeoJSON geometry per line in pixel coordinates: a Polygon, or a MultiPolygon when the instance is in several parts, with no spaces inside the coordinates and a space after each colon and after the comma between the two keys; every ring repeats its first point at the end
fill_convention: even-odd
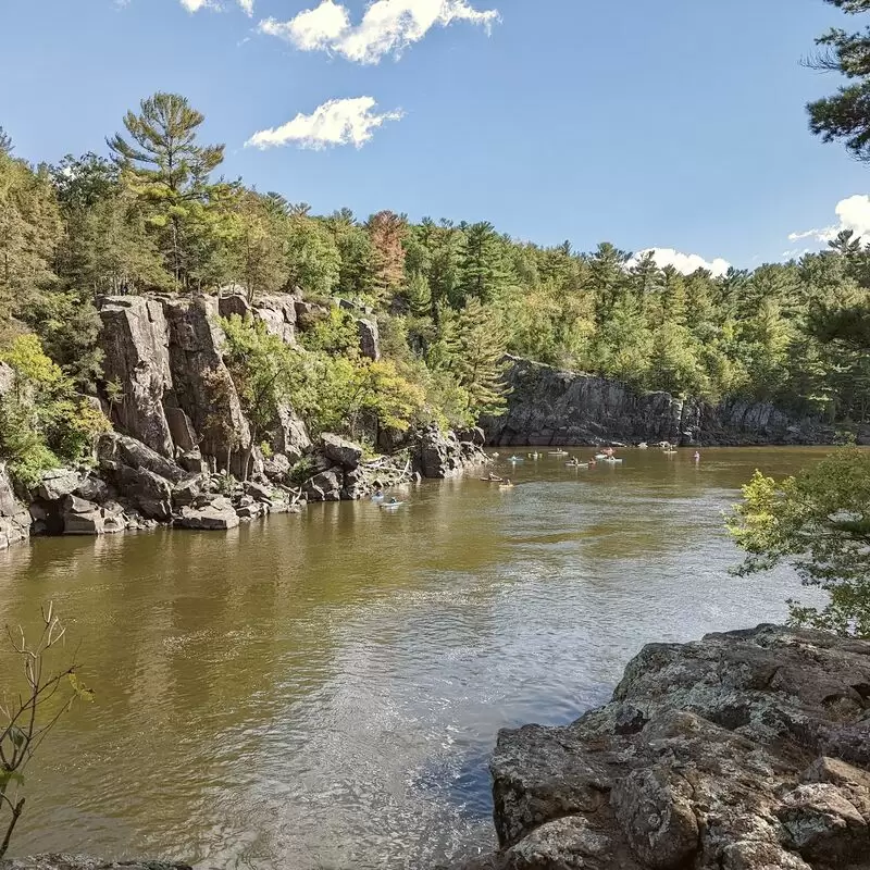
{"type": "Polygon", "coordinates": [[[36,643],[30,644],[18,626],[5,626],[12,654],[24,673],[23,692],[4,694],[0,700],[0,858],[9,849],[15,825],[24,811],[25,798],[18,792],[24,785],[24,768],[61,717],[76,698],[92,700],[76,674],[76,666],[55,670],[51,654],[63,646],[66,629],[53,613],[53,606],[42,608],[42,627],[36,643]],[[4,828],[5,826],[5,828],[4,828]]]}

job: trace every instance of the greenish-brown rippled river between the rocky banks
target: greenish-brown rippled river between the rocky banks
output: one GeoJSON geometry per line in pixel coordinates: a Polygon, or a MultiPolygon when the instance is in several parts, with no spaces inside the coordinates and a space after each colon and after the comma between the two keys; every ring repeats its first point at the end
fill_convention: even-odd
{"type": "Polygon", "coordinates": [[[721,511],[755,468],[825,450],[511,470],[510,449],[510,490],[427,482],[395,512],[313,505],[0,555],[3,621],[53,600],[97,693],[30,768],[12,854],[294,870],[473,855],[494,840],[499,728],[605,701],[646,642],[783,618],[794,576],[729,576],[721,511]]]}

